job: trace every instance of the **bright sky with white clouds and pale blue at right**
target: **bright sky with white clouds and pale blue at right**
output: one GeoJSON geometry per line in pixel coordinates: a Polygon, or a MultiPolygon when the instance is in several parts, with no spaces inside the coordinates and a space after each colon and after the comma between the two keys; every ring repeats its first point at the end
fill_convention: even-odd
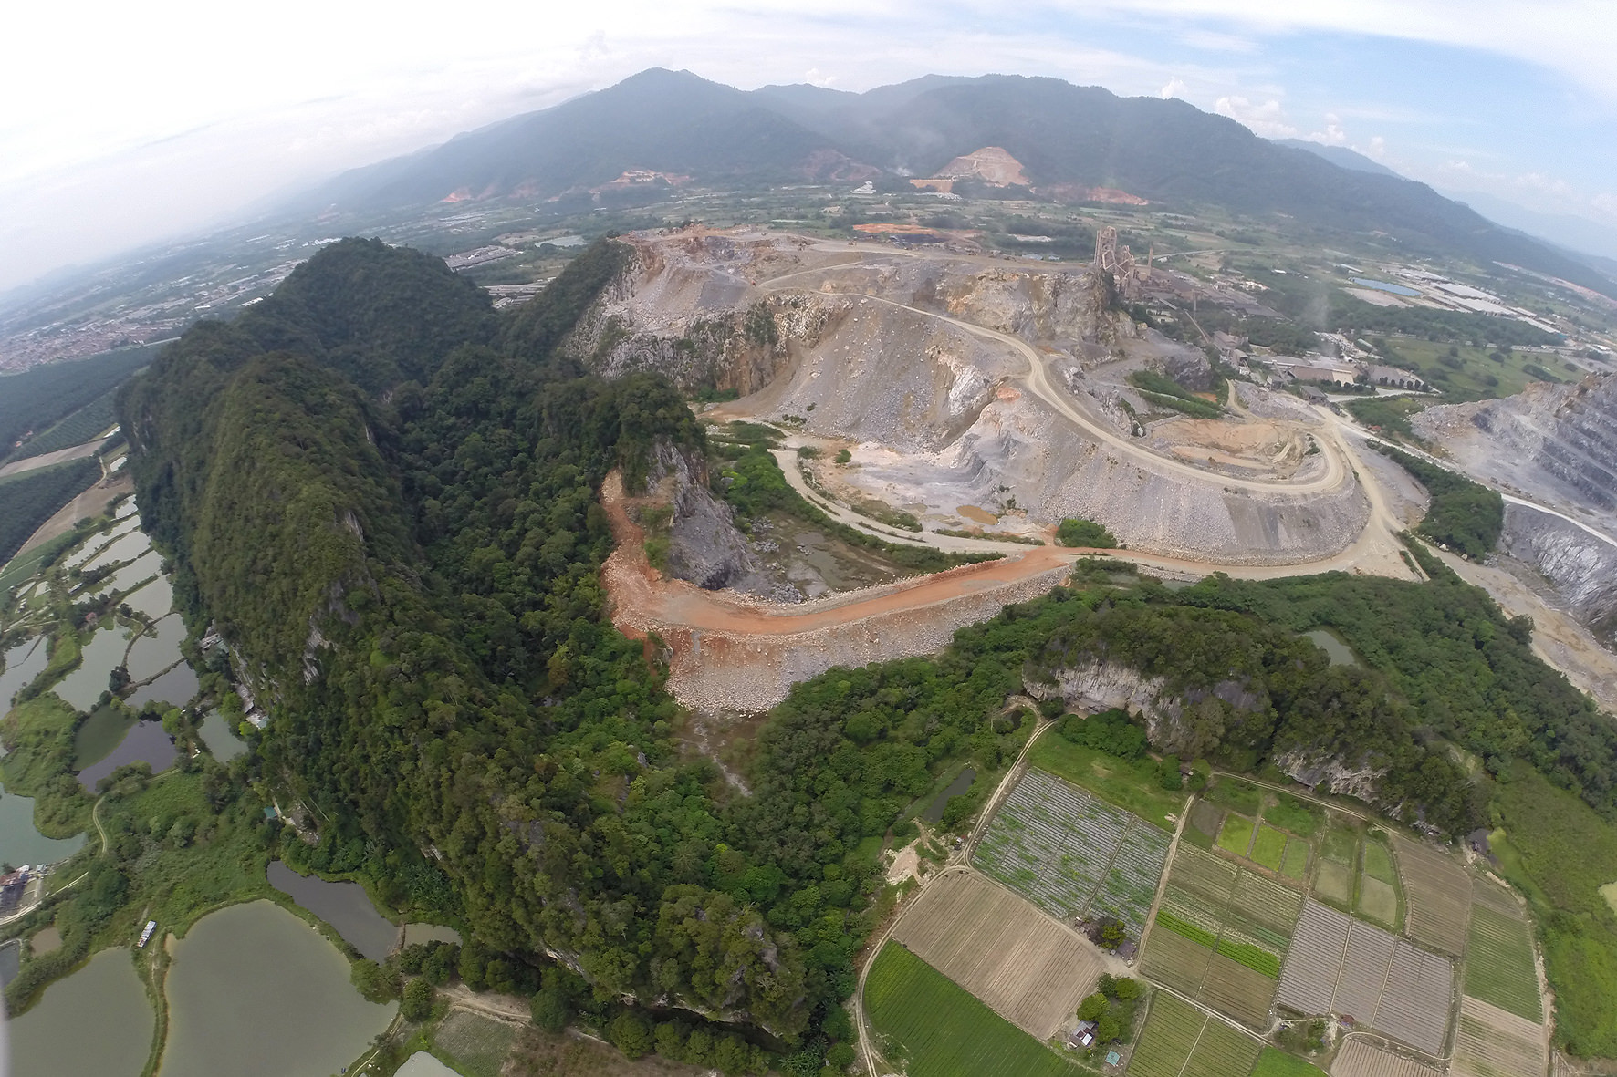
{"type": "Polygon", "coordinates": [[[86,0],[6,21],[0,289],[648,66],[742,89],[1048,74],[1617,228],[1612,0],[86,0]]]}

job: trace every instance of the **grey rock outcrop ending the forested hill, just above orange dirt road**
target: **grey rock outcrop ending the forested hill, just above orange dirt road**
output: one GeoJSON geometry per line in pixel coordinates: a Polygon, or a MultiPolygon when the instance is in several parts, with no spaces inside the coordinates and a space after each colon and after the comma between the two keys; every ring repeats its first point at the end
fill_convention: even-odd
{"type": "Polygon", "coordinates": [[[729,587],[773,597],[773,585],[747,538],[736,529],[731,508],[708,490],[702,461],[661,445],[648,474],[653,484],[673,482],[674,516],[668,532],[668,574],[707,590],[729,587]]]}

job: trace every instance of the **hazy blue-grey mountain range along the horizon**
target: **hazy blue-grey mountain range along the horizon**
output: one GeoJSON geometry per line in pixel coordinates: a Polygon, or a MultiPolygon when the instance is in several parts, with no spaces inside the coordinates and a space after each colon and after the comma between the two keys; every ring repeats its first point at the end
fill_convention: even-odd
{"type": "Polygon", "coordinates": [[[298,209],[513,196],[613,204],[610,196],[627,204],[686,178],[763,184],[930,176],[990,146],[1009,150],[1033,189],[1056,201],[1112,188],[1185,209],[1284,215],[1305,231],[1389,233],[1410,252],[1514,262],[1617,293],[1588,264],[1350,150],[1276,144],[1182,100],[1003,74],[925,76],[849,94],[815,86],[744,92],[689,71],[650,70],[349,171],[298,209]],[[640,175],[626,176],[631,170],[640,175]]]}

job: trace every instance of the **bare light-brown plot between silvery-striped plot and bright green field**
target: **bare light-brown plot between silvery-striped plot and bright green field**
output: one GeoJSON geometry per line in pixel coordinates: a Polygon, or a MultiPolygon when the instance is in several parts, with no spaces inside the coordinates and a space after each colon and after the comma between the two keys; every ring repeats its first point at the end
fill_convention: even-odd
{"type": "Polygon", "coordinates": [[[1087,941],[969,872],[928,886],[893,938],[1038,1040],[1056,1035],[1103,970],[1087,941]]]}

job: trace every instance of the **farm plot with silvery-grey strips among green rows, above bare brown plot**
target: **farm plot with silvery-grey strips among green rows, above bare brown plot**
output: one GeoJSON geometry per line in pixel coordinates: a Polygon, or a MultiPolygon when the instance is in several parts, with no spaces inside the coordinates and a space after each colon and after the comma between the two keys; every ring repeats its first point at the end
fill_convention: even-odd
{"type": "Polygon", "coordinates": [[[1167,844],[1145,820],[1030,770],[994,815],[973,860],[1054,917],[1104,912],[1138,936],[1167,844]]]}

